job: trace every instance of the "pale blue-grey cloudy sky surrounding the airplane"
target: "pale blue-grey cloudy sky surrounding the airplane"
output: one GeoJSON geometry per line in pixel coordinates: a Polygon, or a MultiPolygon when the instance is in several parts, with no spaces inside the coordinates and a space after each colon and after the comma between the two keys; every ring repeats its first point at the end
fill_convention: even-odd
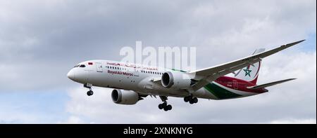
{"type": "Polygon", "coordinates": [[[0,0],[0,123],[316,123],[316,1],[0,0]],[[120,48],[194,46],[197,69],[306,39],[263,59],[269,92],[171,111],[147,97],[114,104],[111,89],[86,88],[66,74],[77,63],[121,60],[120,48]]]}

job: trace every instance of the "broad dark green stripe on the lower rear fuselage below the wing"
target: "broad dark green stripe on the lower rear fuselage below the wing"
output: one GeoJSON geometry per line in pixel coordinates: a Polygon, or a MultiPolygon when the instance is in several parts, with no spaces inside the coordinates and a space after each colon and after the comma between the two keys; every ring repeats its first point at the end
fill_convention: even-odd
{"type": "Polygon", "coordinates": [[[211,92],[211,94],[215,95],[218,99],[230,99],[241,96],[235,94],[234,92],[230,92],[229,90],[225,90],[224,88],[220,88],[214,83],[209,83],[205,85],[204,88],[211,92]]]}

